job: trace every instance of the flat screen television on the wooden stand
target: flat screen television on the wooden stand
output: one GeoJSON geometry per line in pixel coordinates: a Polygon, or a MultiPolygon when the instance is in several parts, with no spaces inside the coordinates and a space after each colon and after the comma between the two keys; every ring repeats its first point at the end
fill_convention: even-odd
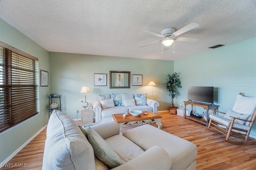
{"type": "Polygon", "coordinates": [[[188,86],[188,100],[213,103],[214,87],[188,86]]]}

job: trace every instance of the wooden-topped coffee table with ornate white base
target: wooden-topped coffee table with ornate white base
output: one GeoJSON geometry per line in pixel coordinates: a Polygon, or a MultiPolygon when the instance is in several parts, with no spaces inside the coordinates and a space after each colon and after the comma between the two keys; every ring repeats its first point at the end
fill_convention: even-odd
{"type": "Polygon", "coordinates": [[[128,125],[143,125],[146,123],[154,123],[158,125],[158,129],[162,128],[162,123],[161,123],[161,116],[156,115],[155,113],[151,111],[143,111],[141,115],[139,116],[133,116],[130,113],[126,117],[123,116],[123,113],[119,114],[113,114],[113,120],[119,123],[120,129],[123,126],[128,126],[128,125]],[[148,115],[144,115],[144,113],[148,113],[148,115]]]}

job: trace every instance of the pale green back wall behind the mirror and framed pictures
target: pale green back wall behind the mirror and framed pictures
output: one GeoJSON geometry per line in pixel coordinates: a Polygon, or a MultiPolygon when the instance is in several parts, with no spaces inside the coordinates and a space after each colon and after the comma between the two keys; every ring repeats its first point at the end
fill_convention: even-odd
{"type": "Polygon", "coordinates": [[[174,61],[53,52],[49,55],[50,93],[62,96],[62,111],[72,119],[76,118],[76,110],[82,107],[80,102],[84,100],[84,93],[80,93],[82,86],[89,86],[90,93],[87,93],[86,101],[91,101],[93,104],[98,100],[99,94],[110,92],[148,93],[148,98],[151,99],[152,88],[147,85],[150,81],[154,81],[157,86],[153,87],[153,99],[161,103],[158,110],[165,110],[170,106],[171,98],[165,91],[164,82],[166,75],[173,73],[174,61]],[[110,89],[110,70],[130,71],[131,77],[132,74],[142,74],[142,86],[132,86],[131,82],[130,88],[110,89]],[[107,74],[107,86],[94,86],[94,73],[107,74]]]}

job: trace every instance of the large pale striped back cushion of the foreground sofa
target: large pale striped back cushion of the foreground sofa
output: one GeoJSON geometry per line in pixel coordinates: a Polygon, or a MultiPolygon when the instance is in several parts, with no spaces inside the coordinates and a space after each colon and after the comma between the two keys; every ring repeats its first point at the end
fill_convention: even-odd
{"type": "Polygon", "coordinates": [[[74,120],[60,111],[49,119],[42,169],[95,169],[92,146],[74,120]]]}

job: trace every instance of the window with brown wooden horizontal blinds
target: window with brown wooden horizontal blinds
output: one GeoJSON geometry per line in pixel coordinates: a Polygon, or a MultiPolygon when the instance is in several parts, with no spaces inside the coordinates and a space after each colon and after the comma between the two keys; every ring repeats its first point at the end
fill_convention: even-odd
{"type": "Polygon", "coordinates": [[[38,59],[0,42],[0,131],[38,113],[38,59]]]}

